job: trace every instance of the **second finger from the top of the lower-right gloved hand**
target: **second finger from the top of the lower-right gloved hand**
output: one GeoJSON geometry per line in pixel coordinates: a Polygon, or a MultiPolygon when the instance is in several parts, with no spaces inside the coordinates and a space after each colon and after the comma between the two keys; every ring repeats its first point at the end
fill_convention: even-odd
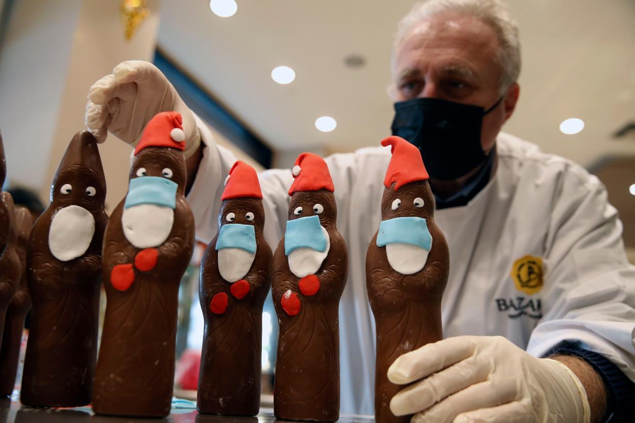
{"type": "Polygon", "coordinates": [[[394,415],[406,415],[425,410],[451,394],[486,381],[490,370],[488,363],[478,365],[470,358],[460,361],[402,389],[392,397],[391,411],[394,415]]]}

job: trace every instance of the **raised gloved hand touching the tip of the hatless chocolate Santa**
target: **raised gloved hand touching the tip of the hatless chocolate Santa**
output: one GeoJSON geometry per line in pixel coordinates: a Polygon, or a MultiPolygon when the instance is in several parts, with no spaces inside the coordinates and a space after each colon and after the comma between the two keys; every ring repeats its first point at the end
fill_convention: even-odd
{"type": "Polygon", "coordinates": [[[85,122],[100,143],[110,131],[120,140],[136,145],[145,124],[157,113],[171,110],[183,117],[185,157],[190,157],[201,144],[194,114],[156,66],[130,60],[119,63],[111,75],[91,86],[85,122]]]}

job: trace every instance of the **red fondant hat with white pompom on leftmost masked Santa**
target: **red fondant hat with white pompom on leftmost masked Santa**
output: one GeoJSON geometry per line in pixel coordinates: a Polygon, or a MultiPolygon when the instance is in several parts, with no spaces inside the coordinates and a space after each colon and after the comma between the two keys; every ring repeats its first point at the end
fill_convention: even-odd
{"type": "Polygon", "coordinates": [[[145,147],[171,147],[185,150],[183,118],[178,112],[161,112],[145,126],[141,140],[135,148],[137,155],[145,147]]]}

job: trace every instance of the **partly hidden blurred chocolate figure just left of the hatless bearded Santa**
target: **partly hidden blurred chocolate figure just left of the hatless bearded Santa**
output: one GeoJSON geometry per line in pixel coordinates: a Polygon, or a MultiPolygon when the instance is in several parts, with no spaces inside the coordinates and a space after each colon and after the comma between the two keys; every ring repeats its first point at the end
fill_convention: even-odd
{"type": "MultiPolygon", "coordinates": [[[[31,297],[27,288],[27,244],[33,226],[33,218],[26,207],[15,207],[17,228],[17,253],[20,259],[20,285],[13,295],[4,320],[4,333],[0,347],[0,396],[9,396],[15,386],[18,371],[22,330],[27,311],[31,308],[31,297]]],[[[1,261],[1,260],[0,260],[1,261]]]]}

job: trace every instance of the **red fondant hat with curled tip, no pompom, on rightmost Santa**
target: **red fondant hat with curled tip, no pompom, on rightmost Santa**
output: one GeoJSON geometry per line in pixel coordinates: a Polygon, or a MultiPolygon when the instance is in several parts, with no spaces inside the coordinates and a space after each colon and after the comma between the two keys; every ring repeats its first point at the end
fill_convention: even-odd
{"type": "Polygon", "coordinates": [[[391,162],[388,164],[384,185],[395,183],[395,191],[407,183],[425,181],[429,178],[419,149],[398,136],[389,136],[382,141],[383,146],[391,146],[391,162]]]}

